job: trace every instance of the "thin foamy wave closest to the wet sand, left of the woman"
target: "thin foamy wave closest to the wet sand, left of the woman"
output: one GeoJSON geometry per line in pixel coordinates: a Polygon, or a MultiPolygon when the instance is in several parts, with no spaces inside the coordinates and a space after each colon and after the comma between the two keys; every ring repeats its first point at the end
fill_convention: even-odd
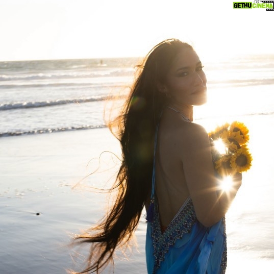
{"type": "Polygon", "coordinates": [[[33,135],[33,134],[76,131],[76,130],[91,130],[91,129],[102,129],[102,128],[106,128],[106,125],[101,124],[99,126],[87,125],[87,126],[68,127],[68,128],[37,129],[37,130],[29,130],[29,131],[10,131],[10,132],[0,132],[0,137],[33,135]]]}

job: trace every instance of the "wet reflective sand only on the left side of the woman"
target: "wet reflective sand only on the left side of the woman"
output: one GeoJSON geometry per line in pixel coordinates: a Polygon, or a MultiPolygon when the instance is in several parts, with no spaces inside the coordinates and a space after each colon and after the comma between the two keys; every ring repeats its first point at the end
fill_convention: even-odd
{"type": "MultiPolygon", "coordinates": [[[[111,153],[103,154],[101,169],[80,181],[98,167],[103,151],[119,157],[117,140],[108,129],[97,129],[3,137],[1,143],[0,273],[77,269],[76,254],[68,246],[71,234],[103,216],[107,196],[91,187],[110,186],[119,161],[111,153]]],[[[144,237],[144,226],[136,235],[144,237]]],[[[135,273],[143,273],[144,255],[141,260],[143,268],[133,255],[126,268],[133,264],[135,273]]],[[[81,256],[77,262],[81,264],[81,256]]],[[[115,272],[121,273],[123,264],[117,260],[115,272]]]]}

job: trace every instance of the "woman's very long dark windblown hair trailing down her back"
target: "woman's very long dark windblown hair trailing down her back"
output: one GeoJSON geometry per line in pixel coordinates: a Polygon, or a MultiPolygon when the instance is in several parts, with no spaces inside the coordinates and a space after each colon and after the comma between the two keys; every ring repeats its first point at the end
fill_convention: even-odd
{"type": "Polygon", "coordinates": [[[88,265],[80,273],[99,272],[112,261],[117,246],[128,243],[145,203],[150,198],[154,138],[157,123],[168,98],[159,91],[172,62],[182,48],[193,49],[178,39],[157,44],[139,66],[121,114],[109,124],[120,141],[122,161],[112,190],[115,203],[101,223],[76,239],[91,243],[88,265]]]}

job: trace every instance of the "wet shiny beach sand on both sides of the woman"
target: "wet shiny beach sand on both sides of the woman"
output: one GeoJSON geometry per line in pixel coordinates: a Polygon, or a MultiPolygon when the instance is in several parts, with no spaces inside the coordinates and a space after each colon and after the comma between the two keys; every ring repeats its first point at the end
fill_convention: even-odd
{"type": "MultiPolygon", "coordinates": [[[[270,274],[274,267],[274,150],[269,143],[273,115],[243,116],[238,120],[250,128],[254,162],[243,175],[243,185],[227,214],[227,274],[270,274]]],[[[203,123],[209,127],[212,120],[203,123]]],[[[74,265],[76,254],[68,246],[71,234],[103,216],[106,195],[87,186],[105,187],[113,182],[119,163],[115,156],[120,153],[118,141],[108,129],[96,129],[3,137],[1,143],[0,273],[59,274],[69,268],[79,270],[74,265]],[[80,182],[97,168],[103,151],[115,155],[103,154],[101,169],[80,182]]],[[[142,217],[136,231],[138,251],[133,248],[128,259],[118,254],[114,273],[146,272],[145,229],[142,217]]],[[[81,265],[81,257],[76,263],[81,265]]]]}

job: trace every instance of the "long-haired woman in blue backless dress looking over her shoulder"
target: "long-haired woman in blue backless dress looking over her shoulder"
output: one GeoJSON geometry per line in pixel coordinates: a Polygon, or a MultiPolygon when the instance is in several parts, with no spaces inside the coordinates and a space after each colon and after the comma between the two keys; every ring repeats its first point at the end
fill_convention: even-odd
{"type": "Polygon", "coordinates": [[[118,125],[122,162],[116,203],[81,242],[92,243],[85,272],[99,272],[131,238],[147,210],[148,273],[225,273],[225,216],[241,175],[228,194],[214,176],[211,145],[192,122],[206,103],[206,76],[193,48],[177,39],[146,56],[118,125]]]}

